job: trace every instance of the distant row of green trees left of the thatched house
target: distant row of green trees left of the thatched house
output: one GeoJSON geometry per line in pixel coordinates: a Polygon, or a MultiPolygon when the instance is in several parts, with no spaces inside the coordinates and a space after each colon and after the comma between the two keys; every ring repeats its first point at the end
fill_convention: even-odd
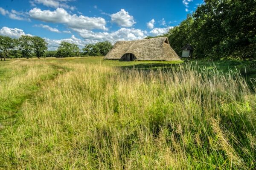
{"type": "Polygon", "coordinates": [[[57,51],[47,51],[47,42],[41,37],[22,35],[18,39],[0,35],[0,59],[31,57],[85,57],[105,56],[113,47],[110,42],[87,44],[79,49],[77,44],[61,42],[57,51]]]}

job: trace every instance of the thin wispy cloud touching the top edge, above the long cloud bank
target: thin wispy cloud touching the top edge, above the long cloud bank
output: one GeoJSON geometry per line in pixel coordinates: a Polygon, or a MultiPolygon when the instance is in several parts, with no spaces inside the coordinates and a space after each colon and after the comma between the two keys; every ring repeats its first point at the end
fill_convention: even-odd
{"type": "Polygon", "coordinates": [[[31,0],[30,3],[32,6],[35,6],[35,4],[42,4],[47,7],[52,7],[52,8],[67,8],[70,10],[76,9],[74,6],[69,6],[67,5],[67,2],[70,0],[31,0]]]}

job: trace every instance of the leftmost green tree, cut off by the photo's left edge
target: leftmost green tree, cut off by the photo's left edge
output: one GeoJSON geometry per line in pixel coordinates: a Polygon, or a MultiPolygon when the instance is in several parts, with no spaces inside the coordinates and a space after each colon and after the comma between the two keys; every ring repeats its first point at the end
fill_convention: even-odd
{"type": "Polygon", "coordinates": [[[2,57],[4,58],[4,61],[6,60],[6,57],[8,57],[10,50],[13,48],[14,48],[13,39],[8,36],[0,35],[0,53],[1,53],[0,58],[1,58],[1,61],[2,61],[2,57]]]}

